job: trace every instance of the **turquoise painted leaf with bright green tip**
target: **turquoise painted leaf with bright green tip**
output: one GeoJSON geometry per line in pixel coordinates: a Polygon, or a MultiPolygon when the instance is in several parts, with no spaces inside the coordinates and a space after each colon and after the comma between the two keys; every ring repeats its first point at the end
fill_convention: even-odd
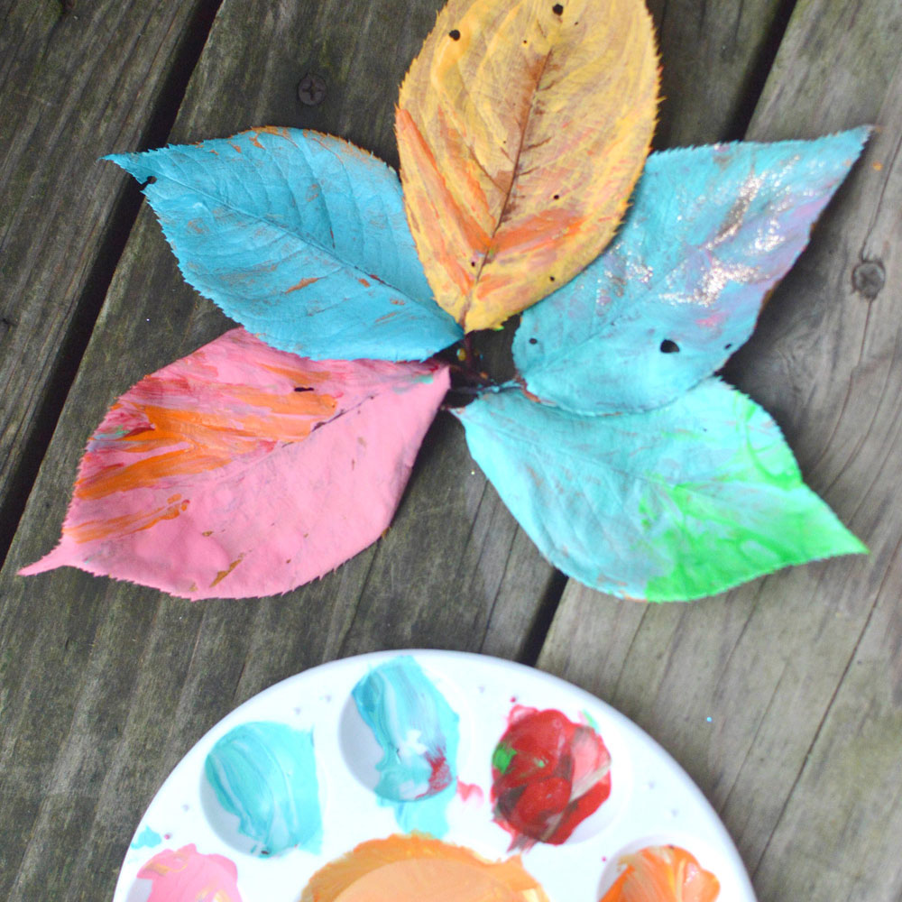
{"type": "Polygon", "coordinates": [[[520,391],[456,413],[539,550],[603,592],[685,601],[867,550],[802,482],[776,423],[717,379],[649,413],[582,417],[520,391]]]}

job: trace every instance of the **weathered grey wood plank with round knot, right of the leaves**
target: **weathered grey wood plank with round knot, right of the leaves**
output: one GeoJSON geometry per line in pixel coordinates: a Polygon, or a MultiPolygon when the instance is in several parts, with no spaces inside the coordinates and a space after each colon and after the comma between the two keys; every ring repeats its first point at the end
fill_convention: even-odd
{"type": "Polygon", "coordinates": [[[686,606],[618,603],[568,584],[539,659],[675,754],[723,815],[762,902],[902,892],[889,839],[902,787],[890,626],[902,595],[900,35],[895,3],[796,8],[750,137],[868,120],[883,132],[729,368],[775,414],[809,482],[870,558],[784,571],[686,606]],[[877,260],[886,285],[869,300],[854,273],[877,260]]]}

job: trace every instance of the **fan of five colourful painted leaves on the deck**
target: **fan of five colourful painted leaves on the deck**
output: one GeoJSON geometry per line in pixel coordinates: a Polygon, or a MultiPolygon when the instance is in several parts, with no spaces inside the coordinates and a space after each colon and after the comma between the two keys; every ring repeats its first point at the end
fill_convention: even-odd
{"type": "Polygon", "coordinates": [[[657,103],[640,0],[450,0],[400,88],[400,181],[294,129],[109,157],[244,328],[115,403],[23,574],[198,599],[327,573],[391,523],[449,386],[433,355],[520,311],[516,380],[454,412],[566,574],[686,600],[866,550],[714,373],[868,131],[649,155],[657,103]]]}

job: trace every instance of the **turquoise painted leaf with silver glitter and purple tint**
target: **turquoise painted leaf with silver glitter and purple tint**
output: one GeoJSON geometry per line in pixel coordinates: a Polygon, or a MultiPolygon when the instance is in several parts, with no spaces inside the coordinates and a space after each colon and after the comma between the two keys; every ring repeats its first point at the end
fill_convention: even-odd
{"type": "Polygon", "coordinates": [[[867,136],[651,154],[613,244],[523,314],[529,391],[583,413],[649,410],[718,370],[867,136]]]}

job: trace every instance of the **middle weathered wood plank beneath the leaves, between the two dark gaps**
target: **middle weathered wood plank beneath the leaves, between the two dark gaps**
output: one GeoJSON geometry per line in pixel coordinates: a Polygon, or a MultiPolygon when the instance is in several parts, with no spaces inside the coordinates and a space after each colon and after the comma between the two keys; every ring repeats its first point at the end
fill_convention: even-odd
{"type": "MultiPolygon", "coordinates": [[[[301,125],[395,161],[397,86],[439,2],[226,0],[170,140],[301,125]],[[323,106],[296,99],[308,70],[327,80],[323,106]]],[[[774,6],[760,0],[759,9],[774,6]]],[[[663,44],[691,56],[671,48],[667,32],[663,44]]],[[[709,63],[696,58],[694,85],[709,63]]],[[[741,94],[740,66],[735,77],[723,87],[730,96],[741,94]]],[[[697,97],[685,113],[672,101],[672,121],[697,97]]],[[[116,395],[225,327],[184,286],[144,209],[0,574],[0,892],[12,899],[108,897],[161,780],[202,732],[272,682],[328,658],[408,645],[523,657],[544,629],[554,575],[447,417],[430,432],[389,534],[282,598],[189,605],[77,571],[15,577],[55,540],[81,448],[116,395]]]]}

